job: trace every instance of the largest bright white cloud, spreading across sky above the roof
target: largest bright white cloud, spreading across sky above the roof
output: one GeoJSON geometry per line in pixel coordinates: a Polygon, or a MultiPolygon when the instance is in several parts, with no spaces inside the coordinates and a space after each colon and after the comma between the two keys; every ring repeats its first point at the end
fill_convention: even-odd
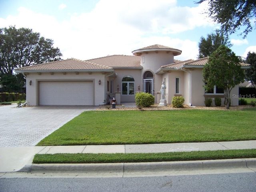
{"type": "MultiPolygon", "coordinates": [[[[100,0],[94,10],[71,14],[62,22],[54,16],[19,8],[17,16],[0,18],[0,27],[16,25],[32,28],[41,36],[54,40],[63,59],[86,60],[112,54],[132,55],[132,51],[152,44],[182,50],[176,59],[196,59],[198,43],[170,38],[170,34],[213,26],[198,7],[177,7],[176,0],[100,0]]],[[[60,8],[65,8],[62,4],[60,8]]]]}

